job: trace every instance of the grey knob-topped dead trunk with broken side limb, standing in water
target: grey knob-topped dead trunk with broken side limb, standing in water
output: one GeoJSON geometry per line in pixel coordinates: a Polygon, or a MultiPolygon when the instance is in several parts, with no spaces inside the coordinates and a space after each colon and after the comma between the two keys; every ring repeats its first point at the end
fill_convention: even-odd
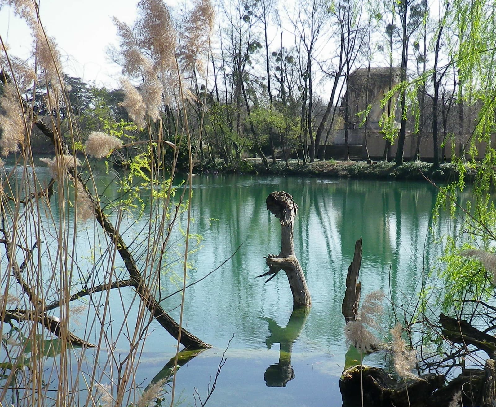
{"type": "Polygon", "coordinates": [[[265,282],[272,280],[280,270],[284,270],[288,277],[291,293],[293,294],[293,306],[310,306],[311,298],[307,287],[307,281],[303,274],[302,266],[295,255],[293,243],[293,224],[295,222],[298,205],[293,197],[284,191],[272,192],[266,200],[267,209],[270,210],[281,222],[281,252],[279,255],[269,254],[267,265],[269,271],[257,277],[270,275],[265,282]]]}

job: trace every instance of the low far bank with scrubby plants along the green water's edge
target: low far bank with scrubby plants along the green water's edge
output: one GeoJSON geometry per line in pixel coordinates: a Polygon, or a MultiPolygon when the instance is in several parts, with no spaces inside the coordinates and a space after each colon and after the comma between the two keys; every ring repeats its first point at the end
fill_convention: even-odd
{"type": "MultiPolygon", "coordinates": [[[[309,164],[298,163],[297,160],[289,161],[289,168],[284,161],[269,161],[267,170],[261,160],[242,159],[236,163],[226,165],[224,161],[217,161],[215,168],[208,171],[220,173],[243,173],[264,175],[299,175],[323,178],[354,178],[375,180],[418,180],[426,177],[435,182],[452,182],[459,179],[460,171],[457,164],[444,163],[434,167],[432,163],[422,161],[408,161],[403,165],[394,162],[378,161],[368,164],[367,161],[315,161],[309,164]]],[[[465,182],[475,179],[476,171],[466,169],[465,182]]]]}

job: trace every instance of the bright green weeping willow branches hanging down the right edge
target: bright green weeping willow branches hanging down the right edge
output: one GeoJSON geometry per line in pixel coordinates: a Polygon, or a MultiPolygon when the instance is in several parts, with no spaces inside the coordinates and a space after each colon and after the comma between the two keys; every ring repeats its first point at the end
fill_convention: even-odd
{"type": "MultiPolygon", "coordinates": [[[[467,358],[473,358],[476,352],[481,356],[486,353],[486,356],[472,359],[486,370],[484,386],[474,396],[484,399],[474,399],[475,404],[481,405],[494,403],[496,398],[496,328],[492,322],[496,317],[492,305],[496,298],[496,207],[491,194],[496,179],[495,8],[494,1],[450,2],[452,23],[449,26],[456,33],[456,38],[448,44],[457,65],[457,80],[463,84],[465,107],[472,102],[478,109],[474,131],[469,138],[468,163],[468,167],[475,170],[476,177],[473,199],[462,202],[459,197],[465,188],[467,164],[463,157],[457,158],[452,154],[452,159],[460,170],[460,177],[449,186],[439,188],[436,209],[448,209],[461,227],[459,234],[448,238],[444,246],[438,275],[443,290],[437,298],[443,313],[439,316],[439,324],[430,326],[432,331],[429,333],[437,336],[440,343],[441,338],[447,339],[448,342],[442,348],[447,356],[445,360],[448,360],[448,355],[463,354],[467,358]]],[[[444,66],[438,66],[436,74],[442,74],[444,69],[444,66]]],[[[454,153],[454,149],[452,151],[454,153]]],[[[426,289],[424,292],[425,296],[428,295],[427,291],[426,289]]],[[[435,290],[430,294],[434,292],[435,290]]],[[[423,298],[427,298],[425,296],[423,298]]],[[[427,304],[424,315],[426,312],[427,304]]],[[[444,364],[433,355],[422,356],[426,359],[421,367],[439,368],[444,364]]],[[[459,366],[459,363],[455,358],[450,365],[459,366]]],[[[464,404],[470,404],[465,401],[464,399],[464,404]]]]}

